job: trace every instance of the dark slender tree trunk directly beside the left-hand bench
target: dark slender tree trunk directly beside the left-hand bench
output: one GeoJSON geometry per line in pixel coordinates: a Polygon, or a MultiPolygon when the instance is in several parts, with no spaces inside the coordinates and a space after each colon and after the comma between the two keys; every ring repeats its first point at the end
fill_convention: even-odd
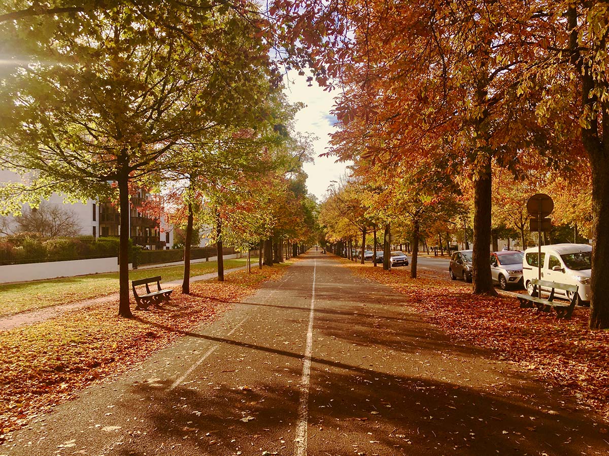
{"type": "Polygon", "coordinates": [[[129,182],[127,176],[119,178],[119,199],[121,206],[121,233],[119,236],[119,305],[118,314],[121,317],[131,318],[130,291],[129,291],[129,182]]]}

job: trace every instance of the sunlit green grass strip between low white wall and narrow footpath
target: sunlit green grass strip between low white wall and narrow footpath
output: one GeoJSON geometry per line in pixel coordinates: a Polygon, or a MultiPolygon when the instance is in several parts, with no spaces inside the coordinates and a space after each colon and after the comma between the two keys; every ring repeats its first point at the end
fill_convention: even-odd
{"type": "MultiPolygon", "coordinates": [[[[252,269],[255,264],[256,267],[258,266],[257,261],[258,258],[252,259],[252,269]]],[[[247,258],[224,260],[224,269],[239,268],[246,264],[247,258]]],[[[191,277],[216,272],[216,268],[216,261],[193,263],[191,264],[191,277]]],[[[160,275],[163,277],[162,285],[163,282],[182,278],[183,274],[184,266],[164,266],[129,271],[129,279],[137,280],[160,275]]],[[[114,292],[118,292],[118,272],[3,284],[0,285],[0,317],[91,299],[114,292]]]]}

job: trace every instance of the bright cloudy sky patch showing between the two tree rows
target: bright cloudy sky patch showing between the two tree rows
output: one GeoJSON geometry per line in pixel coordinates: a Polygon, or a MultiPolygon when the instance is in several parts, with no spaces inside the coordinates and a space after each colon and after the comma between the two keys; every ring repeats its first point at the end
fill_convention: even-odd
{"type": "Polygon", "coordinates": [[[328,148],[328,134],[336,130],[333,126],[336,118],[330,114],[330,111],[334,103],[334,94],[337,92],[324,92],[316,83],[309,87],[306,78],[298,76],[290,77],[286,85],[286,94],[290,102],[306,104],[306,108],[301,109],[296,115],[296,130],[301,133],[312,133],[319,138],[314,142],[315,162],[305,163],[304,169],[309,176],[306,181],[309,193],[322,201],[331,181],[338,181],[348,165],[335,163],[336,157],[319,157],[319,154],[324,153],[328,148]]]}

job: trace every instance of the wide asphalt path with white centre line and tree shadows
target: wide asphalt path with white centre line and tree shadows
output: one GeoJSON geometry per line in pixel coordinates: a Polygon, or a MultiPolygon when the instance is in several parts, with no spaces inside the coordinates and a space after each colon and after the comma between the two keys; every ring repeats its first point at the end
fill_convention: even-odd
{"type": "MultiPolygon", "coordinates": [[[[311,252],[211,325],[57,406],[7,455],[596,455],[572,396],[311,252]]],[[[151,323],[152,324],[152,323],[151,323]]]]}

